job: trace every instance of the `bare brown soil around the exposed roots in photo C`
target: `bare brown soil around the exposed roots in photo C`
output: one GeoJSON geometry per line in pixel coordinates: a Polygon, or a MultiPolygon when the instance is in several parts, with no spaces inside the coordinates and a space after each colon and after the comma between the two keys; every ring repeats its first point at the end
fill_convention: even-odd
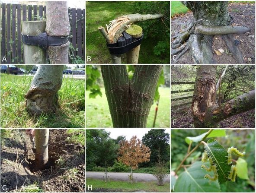
{"type": "MultiPolygon", "coordinates": [[[[255,3],[229,3],[228,10],[230,16],[233,17],[233,22],[237,26],[250,27],[251,31],[244,34],[234,34],[234,38],[240,41],[238,47],[242,53],[243,59],[247,64],[255,63],[255,3]],[[253,36],[252,36],[253,35],[253,36]],[[250,36],[250,37],[249,37],[250,36]],[[251,58],[250,62],[248,58],[251,58]]],[[[182,29],[186,28],[193,21],[192,12],[189,11],[186,14],[175,16],[171,19],[171,39],[174,35],[177,35],[182,29]]],[[[214,54],[215,63],[237,63],[233,54],[230,54],[230,51],[226,51],[226,43],[221,38],[221,35],[215,35],[213,38],[212,51],[214,49],[222,48],[224,53],[221,56],[214,54]]],[[[173,51],[173,49],[171,49],[173,51]]],[[[193,63],[192,57],[189,51],[183,54],[179,60],[176,61],[178,64],[188,64],[193,63]]]]}

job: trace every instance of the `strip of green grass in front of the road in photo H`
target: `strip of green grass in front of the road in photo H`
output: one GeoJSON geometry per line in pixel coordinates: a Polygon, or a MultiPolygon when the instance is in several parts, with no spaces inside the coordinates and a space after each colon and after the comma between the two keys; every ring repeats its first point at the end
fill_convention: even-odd
{"type": "Polygon", "coordinates": [[[121,189],[122,192],[136,192],[138,190],[144,190],[146,192],[170,192],[170,183],[164,183],[163,186],[157,186],[157,182],[138,182],[137,184],[128,184],[127,181],[110,181],[105,183],[102,182],[102,180],[86,178],[86,187],[88,187],[88,185],[89,187],[92,185],[93,189],[121,189]]]}

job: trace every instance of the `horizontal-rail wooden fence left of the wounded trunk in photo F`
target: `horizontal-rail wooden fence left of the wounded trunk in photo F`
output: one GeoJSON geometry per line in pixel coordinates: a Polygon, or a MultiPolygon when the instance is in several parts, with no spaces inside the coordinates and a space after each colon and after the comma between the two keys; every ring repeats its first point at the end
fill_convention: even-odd
{"type": "MultiPolygon", "coordinates": [[[[195,84],[195,82],[171,82],[171,85],[188,85],[188,84],[195,84]]],[[[175,90],[175,91],[171,91],[171,94],[176,94],[176,93],[189,93],[189,92],[193,92],[194,89],[185,89],[185,90],[175,90]]],[[[185,95],[185,94],[184,94],[185,95]]],[[[173,98],[171,97],[171,108],[177,108],[177,107],[182,107],[182,106],[185,106],[185,105],[188,105],[188,104],[192,104],[192,100],[187,100],[189,98],[192,98],[193,95],[192,93],[189,93],[187,94],[186,96],[181,96],[181,97],[176,97],[176,98],[173,98]],[[189,95],[189,96],[187,96],[189,95]],[[186,100],[186,102],[182,103],[182,101],[186,100]],[[172,105],[173,102],[175,101],[179,101],[179,104],[175,104],[175,105],[172,105]]]]}

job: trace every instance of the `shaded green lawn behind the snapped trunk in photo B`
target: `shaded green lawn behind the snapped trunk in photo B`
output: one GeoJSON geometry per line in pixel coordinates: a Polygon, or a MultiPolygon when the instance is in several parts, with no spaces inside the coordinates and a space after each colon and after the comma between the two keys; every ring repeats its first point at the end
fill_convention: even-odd
{"type": "MultiPolygon", "coordinates": [[[[86,57],[91,57],[91,61],[86,61],[86,63],[112,63],[106,40],[98,27],[106,27],[109,21],[133,13],[133,1],[86,1],[86,57]]],[[[157,42],[155,38],[144,38],[138,63],[170,63],[170,55],[154,55],[157,42]]],[[[126,63],[125,54],[122,55],[122,63],[126,63]]]]}

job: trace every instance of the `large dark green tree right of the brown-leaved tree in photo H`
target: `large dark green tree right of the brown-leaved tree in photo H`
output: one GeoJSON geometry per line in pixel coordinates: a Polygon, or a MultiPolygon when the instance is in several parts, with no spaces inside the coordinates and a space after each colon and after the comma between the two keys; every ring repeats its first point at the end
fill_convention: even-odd
{"type": "Polygon", "coordinates": [[[170,161],[169,141],[170,135],[169,133],[165,133],[165,130],[150,130],[145,134],[141,142],[150,148],[150,161],[142,163],[140,166],[153,167],[159,159],[159,154],[163,161],[170,161]]]}

